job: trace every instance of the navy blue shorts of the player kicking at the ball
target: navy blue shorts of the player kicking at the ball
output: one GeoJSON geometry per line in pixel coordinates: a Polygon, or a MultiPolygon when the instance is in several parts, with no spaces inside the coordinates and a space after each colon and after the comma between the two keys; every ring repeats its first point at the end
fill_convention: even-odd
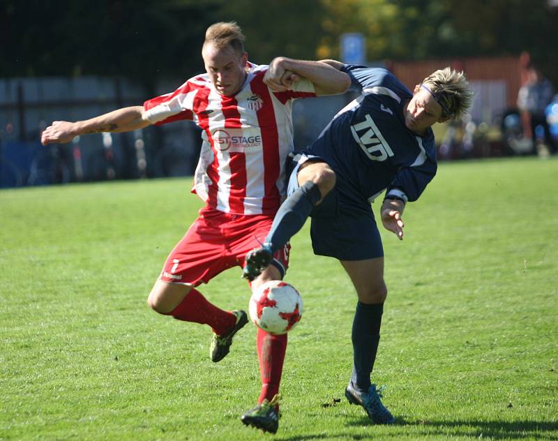
{"type": "MultiPolygon", "coordinates": [[[[319,156],[296,155],[287,172],[292,170],[287,193],[290,195],[296,188],[296,174],[306,160],[319,160],[327,163],[319,156]]],[[[289,176],[289,174],[287,174],[289,176]]],[[[312,248],[317,255],[335,257],[339,260],[365,260],[384,257],[382,238],[372,213],[370,202],[363,199],[356,202],[354,195],[343,194],[342,182],[337,177],[335,188],[317,205],[310,214],[310,237],[312,248]]]]}

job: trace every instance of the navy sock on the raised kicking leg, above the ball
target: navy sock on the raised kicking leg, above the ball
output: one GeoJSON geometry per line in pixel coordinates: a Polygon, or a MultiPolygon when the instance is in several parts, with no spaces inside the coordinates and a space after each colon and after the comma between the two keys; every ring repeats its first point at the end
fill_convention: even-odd
{"type": "Polygon", "coordinates": [[[273,251],[277,251],[303,227],[315,204],[322,199],[322,193],[315,182],[306,181],[287,197],[279,207],[271,230],[266,237],[273,251]]]}

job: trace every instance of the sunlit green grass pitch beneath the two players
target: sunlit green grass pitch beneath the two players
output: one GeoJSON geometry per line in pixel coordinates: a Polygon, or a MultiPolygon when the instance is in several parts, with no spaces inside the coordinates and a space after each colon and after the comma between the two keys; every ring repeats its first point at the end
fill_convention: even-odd
{"type": "MultiPolygon", "coordinates": [[[[277,435],[239,416],[259,394],[255,327],[218,364],[211,329],[145,299],[201,206],[190,179],[0,191],[0,440],[557,440],[558,160],[443,163],[386,251],[373,376],[397,422],[343,395],[356,295],[292,241],[305,301],[277,435]],[[340,401],[338,401],[340,400],[340,401]]],[[[200,290],[247,308],[241,270],[200,290]]]]}

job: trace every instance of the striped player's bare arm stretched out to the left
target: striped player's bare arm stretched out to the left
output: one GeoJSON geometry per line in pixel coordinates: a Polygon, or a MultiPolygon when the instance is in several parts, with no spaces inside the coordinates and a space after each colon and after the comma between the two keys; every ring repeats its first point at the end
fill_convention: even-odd
{"type": "Polygon", "coordinates": [[[54,121],[43,130],[43,145],[70,142],[77,135],[101,132],[128,132],[144,128],[151,123],[145,117],[144,107],[123,107],[86,121],[54,121]]]}

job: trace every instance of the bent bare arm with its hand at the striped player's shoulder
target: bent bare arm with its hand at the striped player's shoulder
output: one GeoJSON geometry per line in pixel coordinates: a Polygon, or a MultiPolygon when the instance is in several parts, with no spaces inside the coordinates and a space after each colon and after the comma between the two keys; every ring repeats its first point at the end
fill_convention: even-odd
{"type": "Polygon", "coordinates": [[[342,94],[351,85],[349,75],[319,61],[295,60],[286,57],[273,59],[264,82],[273,90],[285,90],[298,77],[305,77],[315,85],[317,95],[342,94]]]}

